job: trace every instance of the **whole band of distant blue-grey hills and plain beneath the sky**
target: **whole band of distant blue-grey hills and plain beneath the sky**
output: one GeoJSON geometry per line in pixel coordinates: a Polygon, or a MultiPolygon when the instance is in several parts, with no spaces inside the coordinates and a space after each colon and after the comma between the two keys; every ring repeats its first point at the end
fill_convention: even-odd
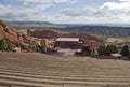
{"type": "MultiPolygon", "coordinates": [[[[113,35],[113,37],[130,37],[130,27],[119,27],[119,25],[109,24],[108,26],[100,24],[94,25],[76,25],[76,24],[52,24],[48,21],[8,21],[8,24],[16,29],[53,29],[65,32],[87,32],[90,34],[113,35]]],[[[120,26],[123,24],[120,24],[120,26]]],[[[127,24],[126,24],[127,25],[127,24]]]]}

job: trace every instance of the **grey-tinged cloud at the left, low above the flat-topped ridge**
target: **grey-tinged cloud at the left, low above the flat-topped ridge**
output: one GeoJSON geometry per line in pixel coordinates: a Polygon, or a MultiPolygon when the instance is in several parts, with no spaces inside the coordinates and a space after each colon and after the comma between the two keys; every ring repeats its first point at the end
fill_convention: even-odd
{"type": "MultiPolygon", "coordinates": [[[[37,6],[39,9],[40,6],[37,6]]],[[[4,20],[43,20],[44,15],[37,9],[0,5],[0,18],[4,20]]]]}

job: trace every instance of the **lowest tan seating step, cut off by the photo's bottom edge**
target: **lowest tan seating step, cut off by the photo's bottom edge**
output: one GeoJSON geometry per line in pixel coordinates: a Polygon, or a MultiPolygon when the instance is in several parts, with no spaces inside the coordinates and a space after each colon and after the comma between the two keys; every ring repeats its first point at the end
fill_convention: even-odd
{"type": "Polygon", "coordinates": [[[69,84],[36,84],[36,83],[23,83],[18,81],[9,81],[9,79],[0,79],[0,82],[3,82],[4,85],[1,85],[0,87],[105,87],[100,85],[69,85],[69,84]],[[6,83],[10,83],[5,85],[6,83]]]}

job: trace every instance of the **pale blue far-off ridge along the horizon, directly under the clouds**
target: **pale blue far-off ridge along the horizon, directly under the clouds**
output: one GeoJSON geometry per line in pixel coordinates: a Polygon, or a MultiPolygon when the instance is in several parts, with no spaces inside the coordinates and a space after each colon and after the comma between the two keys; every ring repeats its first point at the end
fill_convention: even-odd
{"type": "Polygon", "coordinates": [[[51,21],[5,21],[6,24],[11,25],[11,26],[26,26],[26,25],[30,25],[30,26],[44,26],[44,25],[49,25],[49,26],[64,26],[64,27],[75,27],[75,26],[106,26],[106,27],[130,27],[130,24],[119,24],[119,23],[99,23],[99,24],[55,24],[55,23],[51,23],[51,21]],[[35,24],[35,25],[34,25],[35,24]]]}

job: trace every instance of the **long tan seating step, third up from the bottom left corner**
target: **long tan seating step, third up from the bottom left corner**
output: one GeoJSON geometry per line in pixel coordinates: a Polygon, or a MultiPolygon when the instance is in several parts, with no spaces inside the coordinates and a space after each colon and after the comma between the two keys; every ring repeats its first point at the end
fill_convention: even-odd
{"type": "Polygon", "coordinates": [[[52,75],[39,75],[39,74],[25,74],[25,73],[17,73],[17,72],[5,72],[5,71],[0,71],[0,74],[3,75],[14,75],[14,76],[26,76],[26,77],[38,77],[38,78],[60,78],[60,79],[64,79],[64,78],[76,78],[76,79],[86,79],[86,78],[115,78],[115,79],[130,79],[130,76],[107,76],[107,75],[84,75],[83,77],[74,77],[74,76],[52,76],[52,75]]]}

